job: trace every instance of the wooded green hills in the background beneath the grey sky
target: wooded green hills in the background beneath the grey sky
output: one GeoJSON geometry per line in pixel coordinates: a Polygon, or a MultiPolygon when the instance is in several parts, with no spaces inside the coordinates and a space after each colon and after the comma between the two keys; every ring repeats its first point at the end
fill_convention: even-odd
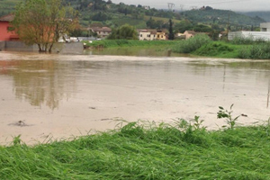
{"type": "MultiPolygon", "coordinates": [[[[15,4],[22,1],[0,0],[0,15],[13,12],[15,4]]],[[[129,23],[139,29],[167,29],[168,20],[172,19],[175,31],[182,31],[180,30],[180,26],[183,26],[182,22],[188,27],[186,30],[193,30],[194,26],[204,24],[211,28],[214,25],[219,27],[219,31],[223,31],[228,25],[231,30],[250,30],[251,27],[266,22],[258,16],[251,17],[232,11],[212,9],[209,6],[200,10],[172,12],[143,5],[113,4],[111,0],[66,0],[66,4],[79,11],[82,27],[95,24],[114,28],[129,23]]]]}

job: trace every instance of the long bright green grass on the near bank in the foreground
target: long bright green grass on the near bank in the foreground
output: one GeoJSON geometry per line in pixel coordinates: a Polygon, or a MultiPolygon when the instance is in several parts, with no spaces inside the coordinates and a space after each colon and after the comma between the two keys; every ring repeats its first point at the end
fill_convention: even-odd
{"type": "Polygon", "coordinates": [[[0,147],[1,179],[269,179],[270,127],[130,122],[119,130],[0,147]]]}

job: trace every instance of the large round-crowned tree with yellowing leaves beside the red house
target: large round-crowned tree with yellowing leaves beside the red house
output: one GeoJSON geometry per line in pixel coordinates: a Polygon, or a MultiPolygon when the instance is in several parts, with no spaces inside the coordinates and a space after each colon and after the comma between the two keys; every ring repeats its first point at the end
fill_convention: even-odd
{"type": "Polygon", "coordinates": [[[27,45],[37,44],[40,52],[51,51],[60,36],[73,31],[77,13],[62,0],[27,0],[17,6],[13,26],[27,45]]]}

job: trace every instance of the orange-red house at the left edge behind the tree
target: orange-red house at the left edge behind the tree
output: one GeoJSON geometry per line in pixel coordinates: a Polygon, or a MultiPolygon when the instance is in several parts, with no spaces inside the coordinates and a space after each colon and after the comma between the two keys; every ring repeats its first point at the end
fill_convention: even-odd
{"type": "Polygon", "coordinates": [[[10,24],[14,20],[13,14],[8,14],[0,17],[0,40],[19,40],[19,36],[15,34],[12,25],[10,24]]]}

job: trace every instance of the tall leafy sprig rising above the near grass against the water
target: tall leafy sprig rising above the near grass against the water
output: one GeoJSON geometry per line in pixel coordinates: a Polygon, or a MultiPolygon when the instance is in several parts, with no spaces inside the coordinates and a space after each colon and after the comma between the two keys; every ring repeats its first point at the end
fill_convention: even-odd
{"type": "MultiPolygon", "coordinates": [[[[230,105],[229,107],[229,111],[225,110],[223,107],[219,107],[220,111],[218,112],[218,119],[222,119],[225,118],[226,119],[226,123],[229,126],[229,129],[234,129],[235,125],[236,125],[236,121],[238,121],[238,118],[240,117],[240,115],[236,116],[236,117],[232,117],[232,107],[233,107],[233,103],[230,105]]],[[[226,126],[224,126],[225,128],[226,126]]]]}

